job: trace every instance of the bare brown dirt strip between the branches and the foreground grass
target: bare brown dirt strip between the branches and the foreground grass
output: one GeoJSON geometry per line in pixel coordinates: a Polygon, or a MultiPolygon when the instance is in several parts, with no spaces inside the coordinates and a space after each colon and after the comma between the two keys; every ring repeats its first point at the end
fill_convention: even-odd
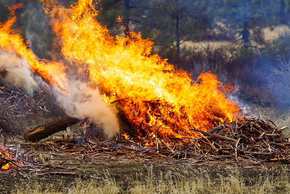
{"type": "MultiPolygon", "coordinates": [[[[27,149],[27,148],[26,148],[27,149]]],[[[136,159],[68,159],[64,157],[58,157],[51,155],[49,151],[39,149],[34,150],[32,155],[39,155],[41,153],[47,161],[66,161],[60,166],[65,168],[73,168],[75,170],[64,170],[64,169],[52,169],[51,172],[77,172],[83,175],[90,175],[94,177],[110,177],[114,179],[116,184],[126,191],[128,188],[132,187],[132,180],[137,177],[141,179],[146,179],[151,173],[155,179],[160,179],[160,175],[164,176],[166,173],[170,173],[173,177],[178,174],[189,174],[200,176],[208,176],[215,181],[215,184],[219,184],[220,177],[229,177],[229,175],[239,173],[244,177],[244,182],[246,185],[255,184],[255,181],[261,179],[261,177],[272,177],[272,179],[278,179],[281,173],[284,176],[290,178],[290,171],[288,170],[289,164],[282,163],[271,163],[273,165],[280,165],[279,167],[269,166],[267,167],[263,164],[255,168],[245,168],[238,164],[202,164],[197,165],[193,163],[184,163],[182,161],[172,163],[169,159],[146,159],[146,158],[136,158],[136,159]],[[52,159],[51,159],[52,157],[52,159]]],[[[102,180],[103,180],[102,179],[102,180]]],[[[23,177],[19,174],[2,174],[0,175],[0,193],[11,193],[20,184],[30,184],[32,181],[38,181],[40,184],[62,184],[62,187],[69,186],[76,181],[87,182],[90,178],[79,178],[71,175],[45,175],[43,177],[34,175],[33,177],[23,177]]],[[[177,183],[178,184],[178,183],[177,183]]],[[[15,190],[14,190],[15,191],[15,190]]],[[[126,193],[126,192],[125,192],[126,193]]]]}

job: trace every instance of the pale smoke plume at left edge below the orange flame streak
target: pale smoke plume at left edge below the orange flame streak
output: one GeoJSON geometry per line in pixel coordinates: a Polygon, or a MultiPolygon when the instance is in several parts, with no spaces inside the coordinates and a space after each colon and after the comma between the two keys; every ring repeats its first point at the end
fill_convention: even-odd
{"type": "Polygon", "coordinates": [[[38,87],[27,60],[3,50],[0,50],[0,82],[7,86],[16,85],[28,96],[33,96],[33,91],[38,87]]]}

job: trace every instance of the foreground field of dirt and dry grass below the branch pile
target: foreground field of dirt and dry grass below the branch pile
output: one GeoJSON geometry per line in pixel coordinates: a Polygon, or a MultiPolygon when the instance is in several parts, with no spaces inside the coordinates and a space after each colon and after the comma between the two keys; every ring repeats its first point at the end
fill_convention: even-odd
{"type": "Polygon", "coordinates": [[[177,168],[168,164],[123,161],[117,165],[108,163],[105,168],[102,164],[93,165],[90,174],[101,179],[32,177],[16,183],[10,192],[289,193],[289,173],[287,165],[268,170],[238,168],[231,165],[177,168]],[[102,167],[103,169],[97,172],[97,169],[102,167]]]}

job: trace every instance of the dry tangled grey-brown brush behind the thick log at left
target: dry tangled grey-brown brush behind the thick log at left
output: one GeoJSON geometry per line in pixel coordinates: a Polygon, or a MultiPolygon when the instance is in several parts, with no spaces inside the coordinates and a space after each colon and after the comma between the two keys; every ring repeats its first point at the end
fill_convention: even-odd
{"type": "Polygon", "coordinates": [[[6,86],[1,85],[0,129],[8,136],[22,134],[30,127],[63,115],[48,91],[37,92],[31,98],[16,88],[11,87],[8,92],[6,89],[6,86]]]}

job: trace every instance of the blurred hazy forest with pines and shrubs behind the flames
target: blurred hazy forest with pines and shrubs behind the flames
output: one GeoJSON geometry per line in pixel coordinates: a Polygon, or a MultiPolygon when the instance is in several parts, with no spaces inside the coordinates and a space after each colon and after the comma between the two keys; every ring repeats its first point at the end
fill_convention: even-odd
{"type": "MultiPolygon", "coordinates": [[[[75,1],[59,0],[66,7],[75,1]]],[[[39,58],[61,57],[52,49],[56,37],[41,2],[0,0],[0,22],[16,3],[15,28],[30,49],[39,58]]],[[[238,86],[243,104],[289,112],[290,0],[103,0],[96,9],[111,35],[141,33],[155,43],[152,54],[193,78],[212,71],[238,86]]]]}

